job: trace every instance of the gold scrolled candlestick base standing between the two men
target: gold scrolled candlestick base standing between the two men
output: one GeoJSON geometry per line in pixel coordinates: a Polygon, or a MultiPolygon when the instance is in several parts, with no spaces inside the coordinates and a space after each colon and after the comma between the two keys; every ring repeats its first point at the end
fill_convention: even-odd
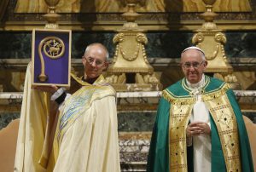
{"type": "MultiPolygon", "coordinates": [[[[145,45],[148,38],[137,26],[135,7],[138,0],[125,0],[127,12],[122,14],[126,22],[118,34],[113,37],[116,45],[113,61],[108,67],[108,83],[117,91],[149,91],[161,88],[154,68],[148,63],[145,45]]],[[[140,1],[141,2],[141,1],[140,1]]]]}

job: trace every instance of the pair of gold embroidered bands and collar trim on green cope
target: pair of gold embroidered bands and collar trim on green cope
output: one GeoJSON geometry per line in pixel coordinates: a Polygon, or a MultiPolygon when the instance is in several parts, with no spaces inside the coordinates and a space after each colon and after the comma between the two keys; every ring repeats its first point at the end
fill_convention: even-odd
{"type": "MultiPolygon", "coordinates": [[[[226,169],[241,171],[236,117],[226,95],[229,85],[224,83],[218,89],[206,91],[208,84],[209,77],[206,77],[206,84],[201,92],[202,101],[206,104],[218,129],[226,169]]],[[[168,89],[163,91],[163,97],[172,104],[169,118],[170,171],[188,171],[186,128],[195,104],[195,95],[191,94],[191,89],[186,86],[184,79],[182,86],[189,93],[188,95],[174,95],[168,89]]]]}

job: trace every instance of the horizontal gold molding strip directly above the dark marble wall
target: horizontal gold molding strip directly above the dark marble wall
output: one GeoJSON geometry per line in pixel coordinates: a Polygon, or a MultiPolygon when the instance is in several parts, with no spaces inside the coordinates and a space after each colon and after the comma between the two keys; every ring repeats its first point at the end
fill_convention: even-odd
{"type": "MultiPolygon", "coordinates": [[[[0,31],[32,31],[33,28],[44,28],[45,21],[14,20],[0,25],[0,31]]],[[[201,20],[138,20],[137,24],[147,31],[193,31],[200,28],[201,20]]],[[[256,20],[215,20],[218,29],[224,31],[256,30],[256,20]]],[[[59,21],[59,29],[73,31],[116,31],[122,28],[123,20],[97,20],[80,22],[75,20],[59,21]]]]}

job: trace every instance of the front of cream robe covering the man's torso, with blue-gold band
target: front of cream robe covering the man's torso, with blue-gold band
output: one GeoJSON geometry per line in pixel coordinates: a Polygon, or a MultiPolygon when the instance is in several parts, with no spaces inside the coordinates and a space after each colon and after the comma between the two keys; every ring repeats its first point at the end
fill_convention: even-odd
{"type": "Polygon", "coordinates": [[[83,87],[61,108],[54,171],[119,172],[115,90],[102,76],[93,84],[74,79],[83,87]]]}

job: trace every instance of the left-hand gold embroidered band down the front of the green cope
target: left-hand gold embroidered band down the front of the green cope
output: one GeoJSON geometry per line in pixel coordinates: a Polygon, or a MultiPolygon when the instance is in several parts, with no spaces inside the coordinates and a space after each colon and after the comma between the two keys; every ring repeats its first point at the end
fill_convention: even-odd
{"type": "Polygon", "coordinates": [[[163,97],[172,103],[169,119],[170,171],[186,172],[188,165],[185,131],[192,111],[191,105],[195,103],[195,99],[191,97],[177,99],[166,90],[163,91],[163,97]]]}

